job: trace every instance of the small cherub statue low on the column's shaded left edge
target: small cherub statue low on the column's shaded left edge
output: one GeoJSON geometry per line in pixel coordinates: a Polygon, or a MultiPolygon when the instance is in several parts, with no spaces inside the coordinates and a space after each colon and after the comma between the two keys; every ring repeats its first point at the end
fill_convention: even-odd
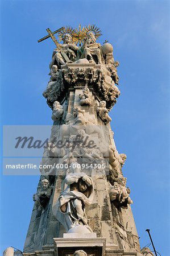
{"type": "Polygon", "coordinates": [[[52,189],[53,187],[49,185],[49,180],[42,177],[40,187],[38,187],[37,193],[33,195],[33,200],[35,201],[38,210],[46,207],[49,198],[51,197],[52,189]]]}

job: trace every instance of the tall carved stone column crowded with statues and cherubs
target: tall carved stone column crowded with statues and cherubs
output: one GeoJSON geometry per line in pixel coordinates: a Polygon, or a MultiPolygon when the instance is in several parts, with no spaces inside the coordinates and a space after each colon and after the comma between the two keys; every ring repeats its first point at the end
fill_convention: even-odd
{"type": "Polygon", "coordinates": [[[94,25],[47,29],[56,48],[43,92],[52,109],[24,256],[143,255],[110,127],[120,95],[113,46],[94,25]],[[59,43],[55,34],[58,33],[59,43]],[[78,46],[79,43],[79,46],[78,46]]]}

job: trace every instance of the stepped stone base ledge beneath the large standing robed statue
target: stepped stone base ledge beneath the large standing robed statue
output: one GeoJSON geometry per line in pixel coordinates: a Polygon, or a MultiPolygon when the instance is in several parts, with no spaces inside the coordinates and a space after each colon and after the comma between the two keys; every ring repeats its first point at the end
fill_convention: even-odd
{"type": "MultiPolygon", "coordinates": [[[[94,236],[96,233],[91,234],[94,236]]],[[[106,244],[106,238],[87,237],[90,236],[90,233],[86,234],[84,238],[73,237],[76,234],[68,235],[72,238],[53,238],[54,245],[45,245],[43,250],[37,250],[34,253],[23,253],[23,256],[73,256],[77,250],[84,250],[88,256],[142,256],[142,254],[135,251],[118,250],[117,245],[106,244]]]]}

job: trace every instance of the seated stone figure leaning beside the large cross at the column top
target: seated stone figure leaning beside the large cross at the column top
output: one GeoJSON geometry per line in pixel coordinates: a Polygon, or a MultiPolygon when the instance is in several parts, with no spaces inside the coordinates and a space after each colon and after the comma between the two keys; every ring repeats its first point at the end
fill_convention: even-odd
{"type": "Polygon", "coordinates": [[[49,68],[52,65],[65,65],[68,62],[73,62],[77,57],[78,47],[72,43],[72,36],[65,34],[63,36],[63,44],[60,44],[60,48],[56,48],[53,51],[52,61],[49,64],[49,68]]]}

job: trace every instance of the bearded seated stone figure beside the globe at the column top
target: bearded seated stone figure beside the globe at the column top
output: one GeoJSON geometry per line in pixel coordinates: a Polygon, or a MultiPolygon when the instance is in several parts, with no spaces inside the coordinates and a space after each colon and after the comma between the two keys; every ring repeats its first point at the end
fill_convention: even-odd
{"type": "Polygon", "coordinates": [[[101,44],[96,43],[96,38],[93,32],[89,32],[85,38],[84,44],[80,51],[82,52],[81,58],[89,60],[96,64],[104,64],[104,59],[101,51],[101,44]]]}

